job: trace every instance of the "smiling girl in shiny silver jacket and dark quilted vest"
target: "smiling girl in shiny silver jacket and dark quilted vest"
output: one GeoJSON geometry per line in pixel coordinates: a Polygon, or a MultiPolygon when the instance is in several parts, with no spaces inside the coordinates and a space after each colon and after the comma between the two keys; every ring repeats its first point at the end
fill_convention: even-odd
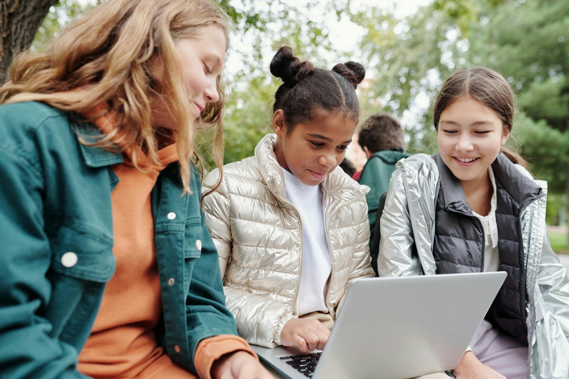
{"type": "Polygon", "coordinates": [[[461,379],[569,377],[569,280],[547,239],[547,183],[504,148],[513,115],[500,74],[452,74],[435,102],[439,152],[398,164],[381,218],[380,276],[508,273],[461,379]]]}

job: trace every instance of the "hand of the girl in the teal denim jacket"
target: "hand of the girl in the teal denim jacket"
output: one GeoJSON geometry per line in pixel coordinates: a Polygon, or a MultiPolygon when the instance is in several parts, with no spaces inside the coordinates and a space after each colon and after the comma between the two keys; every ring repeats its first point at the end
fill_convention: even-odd
{"type": "Polygon", "coordinates": [[[273,379],[257,358],[245,351],[226,354],[212,366],[214,379],[273,379]]]}

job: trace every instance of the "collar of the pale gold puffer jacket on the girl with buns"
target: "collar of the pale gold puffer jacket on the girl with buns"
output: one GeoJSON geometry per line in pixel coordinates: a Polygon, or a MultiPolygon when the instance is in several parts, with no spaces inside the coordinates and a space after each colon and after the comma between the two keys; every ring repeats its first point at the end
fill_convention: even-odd
{"type": "MultiPolygon", "coordinates": [[[[261,172],[261,176],[269,186],[270,191],[277,199],[286,199],[284,176],[274,151],[277,140],[276,134],[264,136],[255,147],[255,158],[259,172],[261,172]]],[[[367,186],[360,185],[352,180],[340,167],[336,167],[324,178],[322,189],[325,195],[332,197],[340,204],[348,203],[369,191],[367,186]]]]}

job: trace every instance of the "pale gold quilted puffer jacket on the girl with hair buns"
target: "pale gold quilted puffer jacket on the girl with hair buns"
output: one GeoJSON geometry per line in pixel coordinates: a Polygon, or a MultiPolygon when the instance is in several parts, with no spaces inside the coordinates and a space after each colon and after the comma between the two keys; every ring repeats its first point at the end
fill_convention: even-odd
{"type": "MultiPolygon", "coordinates": [[[[281,344],[284,324],[298,317],[302,273],[302,222],[286,199],[274,153],[277,136],[266,135],[255,156],[224,166],[220,188],[204,199],[205,223],[219,254],[226,306],[239,334],[256,345],[281,344]]],[[[204,180],[216,185],[219,170],[204,180]]],[[[341,168],[323,182],[323,210],[332,274],[325,303],[335,318],[350,282],[373,277],[369,255],[369,188],[341,168]]]]}

